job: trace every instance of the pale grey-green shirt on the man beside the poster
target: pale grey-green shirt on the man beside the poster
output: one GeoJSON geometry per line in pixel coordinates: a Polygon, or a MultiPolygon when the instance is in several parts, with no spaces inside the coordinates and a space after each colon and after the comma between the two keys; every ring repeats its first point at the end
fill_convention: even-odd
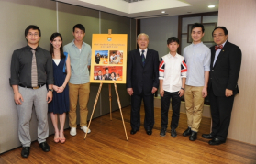
{"type": "Polygon", "coordinates": [[[91,46],[84,43],[78,49],[74,42],[64,46],[64,51],[70,55],[71,59],[71,79],[72,84],[83,84],[90,82],[88,66],[91,65],[91,46]]]}

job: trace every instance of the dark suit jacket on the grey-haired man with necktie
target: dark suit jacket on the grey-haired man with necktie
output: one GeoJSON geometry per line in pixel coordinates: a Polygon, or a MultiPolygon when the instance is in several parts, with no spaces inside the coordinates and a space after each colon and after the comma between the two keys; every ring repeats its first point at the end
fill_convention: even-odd
{"type": "Polygon", "coordinates": [[[153,49],[148,49],[143,67],[139,49],[128,53],[127,88],[132,88],[134,94],[152,94],[152,87],[159,86],[159,55],[153,49]]]}

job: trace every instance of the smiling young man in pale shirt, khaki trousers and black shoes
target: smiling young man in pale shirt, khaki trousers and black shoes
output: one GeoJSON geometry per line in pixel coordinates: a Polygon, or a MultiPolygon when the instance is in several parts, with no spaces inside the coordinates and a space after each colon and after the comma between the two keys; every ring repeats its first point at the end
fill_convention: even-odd
{"type": "Polygon", "coordinates": [[[184,48],[184,59],[188,70],[184,93],[188,128],[183,136],[190,136],[191,141],[197,139],[209,80],[211,51],[202,42],[204,32],[204,26],[195,23],[191,27],[193,43],[184,48]]]}

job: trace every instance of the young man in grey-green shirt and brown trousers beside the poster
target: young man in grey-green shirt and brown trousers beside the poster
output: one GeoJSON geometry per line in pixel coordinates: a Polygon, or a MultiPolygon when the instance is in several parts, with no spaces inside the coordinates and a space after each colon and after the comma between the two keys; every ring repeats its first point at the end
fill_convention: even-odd
{"type": "MultiPolygon", "coordinates": [[[[70,134],[76,135],[76,106],[79,97],[80,126],[84,133],[87,132],[87,104],[90,93],[89,69],[91,65],[91,46],[83,42],[85,27],[77,24],[73,27],[73,41],[64,46],[64,51],[68,52],[71,58],[72,75],[69,82],[70,112],[69,125],[70,134]]],[[[88,133],[91,130],[88,129],[88,133]]]]}

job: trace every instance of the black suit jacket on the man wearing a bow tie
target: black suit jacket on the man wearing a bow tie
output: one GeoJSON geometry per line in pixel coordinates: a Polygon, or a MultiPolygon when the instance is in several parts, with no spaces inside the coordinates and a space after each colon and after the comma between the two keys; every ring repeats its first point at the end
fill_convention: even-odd
{"type": "Polygon", "coordinates": [[[215,46],[211,47],[211,70],[208,88],[212,87],[216,96],[225,96],[226,89],[239,93],[238,79],[241,65],[241,50],[238,46],[226,42],[221,49],[215,65],[215,46]]]}

